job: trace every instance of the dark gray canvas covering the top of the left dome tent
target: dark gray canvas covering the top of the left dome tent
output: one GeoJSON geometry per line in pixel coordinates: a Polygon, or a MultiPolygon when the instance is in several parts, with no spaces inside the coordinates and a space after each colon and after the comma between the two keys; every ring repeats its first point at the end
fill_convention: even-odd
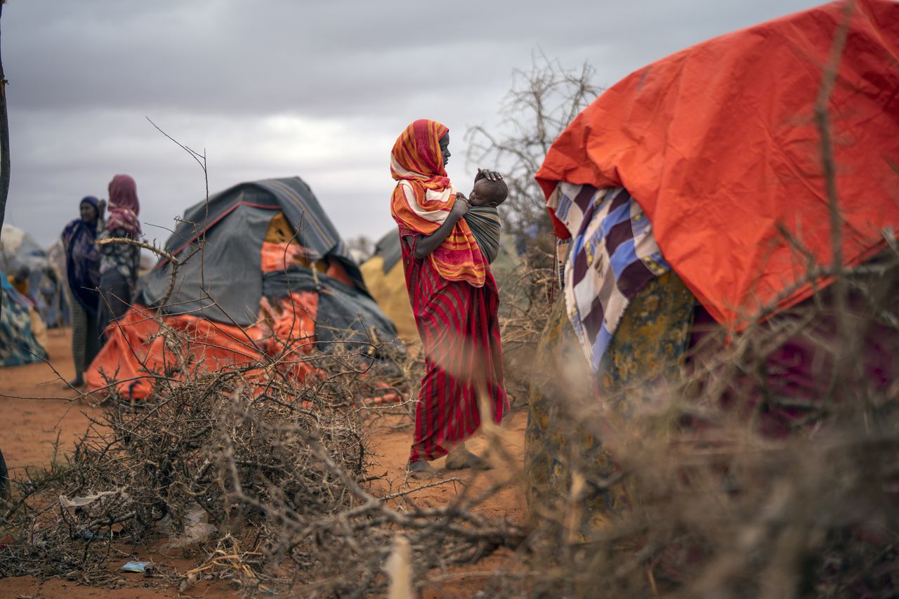
{"type": "Polygon", "coordinates": [[[241,183],[200,201],[184,212],[165,251],[180,263],[171,296],[163,305],[173,268],[164,258],[141,278],[137,297],[138,303],[165,314],[251,326],[263,297],[315,290],[319,341],[345,329],[367,335],[372,327],[383,340],[396,337],[333,223],[299,177],[241,183]],[[274,220],[279,215],[282,219],[274,220]],[[274,223],[289,229],[280,234],[305,248],[308,263],[337,266],[348,281],[297,264],[263,273],[263,244],[274,223]]]}

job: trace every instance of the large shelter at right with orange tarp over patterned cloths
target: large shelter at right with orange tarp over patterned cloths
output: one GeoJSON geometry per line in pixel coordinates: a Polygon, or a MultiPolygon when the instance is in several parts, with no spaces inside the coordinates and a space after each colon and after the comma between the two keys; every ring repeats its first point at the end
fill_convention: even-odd
{"type": "MultiPolygon", "coordinates": [[[[609,423],[645,405],[648,388],[678,377],[693,359],[688,349],[709,330],[724,338],[766,318],[773,327],[787,310],[813,304],[813,290],[829,305],[831,281],[815,273],[833,264],[834,238],[845,267],[895,243],[899,4],[855,3],[826,102],[831,155],[823,156],[815,125],[845,7],[765,22],[644,67],[588,106],[547,153],[537,180],[560,254],[567,251],[565,305],[551,318],[537,362],[556,376],[569,373],[572,354],[562,342],[579,346],[586,373],[578,376],[592,378],[585,393],[609,418],[592,431],[616,430],[609,423]],[[825,164],[837,165],[835,237],[825,164]]],[[[850,293],[847,317],[856,299],[850,293]]],[[[807,416],[826,396],[833,358],[822,340],[836,327],[805,314],[813,315],[807,326],[766,348],[768,377],[740,380],[741,400],[750,402],[766,385],[769,397],[753,420],[763,435],[814,422],[807,416]],[[779,403],[785,398],[792,401],[779,403]]],[[[899,373],[896,330],[876,322],[860,335],[859,371],[872,388],[886,388],[899,373]]],[[[579,525],[589,534],[627,494],[605,484],[614,456],[580,426],[583,412],[559,418],[570,387],[551,380],[532,389],[529,497],[553,509],[572,488],[573,470],[584,473],[579,525]]]]}

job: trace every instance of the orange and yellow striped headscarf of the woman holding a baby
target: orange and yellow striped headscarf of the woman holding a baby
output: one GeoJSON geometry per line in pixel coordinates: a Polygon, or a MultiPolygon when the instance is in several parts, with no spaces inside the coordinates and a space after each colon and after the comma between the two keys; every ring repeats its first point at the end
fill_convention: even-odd
{"type": "MultiPolygon", "coordinates": [[[[396,138],[390,152],[390,174],[396,181],[390,214],[401,228],[431,235],[456,202],[456,188],[449,183],[440,147],[440,139],[447,133],[449,129],[441,123],[419,119],[396,138]]],[[[484,286],[484,255],[465,219],[458,220],[428,259],[447,281],[484,286]]]]}

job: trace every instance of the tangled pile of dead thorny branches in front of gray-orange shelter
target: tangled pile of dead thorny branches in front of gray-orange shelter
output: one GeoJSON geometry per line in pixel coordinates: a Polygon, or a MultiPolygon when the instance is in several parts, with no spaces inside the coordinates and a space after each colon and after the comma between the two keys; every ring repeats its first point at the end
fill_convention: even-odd
{"type": "Polygon", "coordinates": [[[67,464],[14,483],[0,576],[115,584],[137,548],[162,544],[195,559],[156,573],[182,587],[228,578],[246,592],[363,595],[386,587],[397,536],[420,572],[521,541],[471,511],[480,498],[436,509],[416,506],[414,488],[372,495],[360,411],[371,353],[314,356],[316,376],[301,382],[262,362],[204,372],[183,361],[145,405],[111,400],[67,464]]]}

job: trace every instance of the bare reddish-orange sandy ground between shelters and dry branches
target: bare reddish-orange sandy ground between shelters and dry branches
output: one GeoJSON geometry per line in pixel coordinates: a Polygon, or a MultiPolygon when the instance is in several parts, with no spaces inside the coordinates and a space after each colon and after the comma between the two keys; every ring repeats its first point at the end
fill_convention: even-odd
{"type": "MultiPolygon", "coordinates": [[[[76,441],[85,433],[90,421],[88,416],[98,416],[102,407],[94,407],[89,401],[76,399],[76,393],[67,389],[63,380],[74,376],[71,360],[71,345],[67,330],[49,331],[50,363],[30,364],[13,368],[0,368],[0,449],[11,470],[13,478],[27,478],[29,467],[46,466],[54,459],[56,451],[71,451],[76,441]],[[60,379],[62,377],[62,379],[60,379]],[[58,448],[58,449],[57,449],[58,448]]],[[[521,465],[524,445],[526,414],[519,411],[507,418],[500,430],[503,447],[508,455],[508,466],[481,474],[462,474],[462,483],[449,483],[441,487],[423,489],[415,497],[416,501],[428,505],[445,505],[453,501],[467,486],[470,490],[482,490],[498,481],[512,478],[513,470],[521,465]]],[[[390,423],[385,419],[386,424],[390,423]]],[[[394,490],[404,485],[405,460],[408,458],[411,433],[409,430],[396,431],[381,428],[372,430],[372,450],[377,455],[378,464],[369,474],[384,475],[394,490]]],[[[486,441],[476,439],[468,446],[473,451],[484,452],[486,441]]],[[[441,467],[441,460],[435,466],[441,467]]],[[[481,514],[506,517],[512,522],[522,522],[526,517],[526,505],[521,487],[514,482],[503,487],[478,507],[481,514]]],[[[151,558],[157,563],[165,563],[178,569],[191,568],[186,559],[172,559],[149,550],[136,556],[138,559],[151,558]]],[[[470,597],[479,588],[479,578],[467,581],[454,578],[465,572],[489,571],[508,567],[512,559],[508,552],[498,552],[472,568],[454,568],[450,572],[435,572],[435,576],[445,577],[445,581],[425,589],[426,597],[470,597]]],[[[123,562],[124,563],[124,562],[123,562]]],[[[140,574],[122,573],[122,588],[105,589],[79,586],[76,582],[51,578],[40,581],[33,577],[13,577],[0,579],[0,599],[6,597],[37,598],[67,597],[81,599],[98,597],[119,599],[135,597],[177,597],[205,596],[232,597],[236,593],[227,586],[200,583],[191,588],[187,595],[179,595],[176,588],[159,586],[159,581],[147,579],[140,574]]]]}

